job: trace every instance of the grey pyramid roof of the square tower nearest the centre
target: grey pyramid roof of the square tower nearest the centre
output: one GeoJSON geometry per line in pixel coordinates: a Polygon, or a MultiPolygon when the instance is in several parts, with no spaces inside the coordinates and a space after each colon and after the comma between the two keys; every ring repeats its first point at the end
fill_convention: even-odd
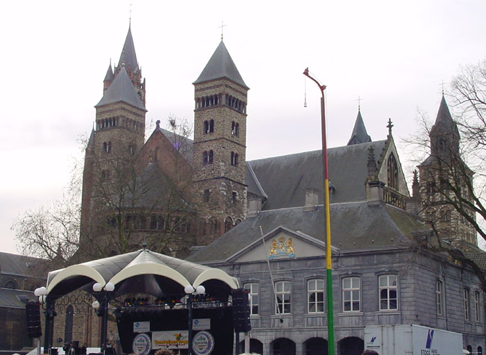
{"type": "Polygon", "coordinates": [[[204,67],[203,72],[201,72],[201,75],[199,75],[199,78],[193,84],[222,78],[234,81],[248,89],[233,59],[231,59],[228,49],[226,49],[224,42],[221,40],[215,53],[212,54],[208,64],[204,67]]]}

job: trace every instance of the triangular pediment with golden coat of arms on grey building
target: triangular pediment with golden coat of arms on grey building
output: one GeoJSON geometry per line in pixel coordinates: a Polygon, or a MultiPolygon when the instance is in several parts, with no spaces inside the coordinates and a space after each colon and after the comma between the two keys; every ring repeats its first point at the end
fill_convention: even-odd
{"type": "Polygon", "coordinates": [[[267,233],[263,240],[261,238],[255,240],[248,247],[238,251],[228,258],[228,261],[244,263],[266,261],[267,259],[275,261],[309,256],[324,257],[325,251],[326,245],[321,240],[280,226],[267,233]]]}

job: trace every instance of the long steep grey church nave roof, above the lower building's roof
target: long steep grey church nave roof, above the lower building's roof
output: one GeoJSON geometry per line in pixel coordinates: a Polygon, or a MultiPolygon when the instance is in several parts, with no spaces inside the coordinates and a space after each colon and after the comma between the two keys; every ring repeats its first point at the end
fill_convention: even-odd
{"type": "MultiPolygon", "coordinates": [[[[367,179],[369,147],[374,147],[377,159],[385,148],[386,140],[349,145],[328,149],[329,182],[335,186],[330,203],[364,201],[367,179]]],[[[247,162],[267,196],[264,210],[304,206],[305,190],[316,188],[321,191],[319,203],[324,203],[322,151],[276,156],[247,162]]],[[[258,195],[253,177],[247,172],[246,184],[249,191],[258,195]]]]}

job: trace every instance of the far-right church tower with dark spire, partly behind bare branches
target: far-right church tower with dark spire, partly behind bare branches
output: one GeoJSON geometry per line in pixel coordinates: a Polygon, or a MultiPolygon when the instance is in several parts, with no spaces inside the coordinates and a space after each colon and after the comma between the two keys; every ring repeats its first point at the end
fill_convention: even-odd
{"type": "MultiPolygon", "coordinates": [[[[414,197],[418,190],[421,217],[435,227],[440,237],[477,245],[474,227],[451,204],[451,201],[458,201],[458,195],[463,199],[459,202],[463,210],[468,210],[469,203],[474,204],[467,183],[472,181],[474,173],[460,156],[458,126],[451,117],[444,96],[429,137],[430,155],[418,166],[418,186],[414,181],[414,197]]],[[[473,210],[468,214],[476,220],[473,210]]]]}

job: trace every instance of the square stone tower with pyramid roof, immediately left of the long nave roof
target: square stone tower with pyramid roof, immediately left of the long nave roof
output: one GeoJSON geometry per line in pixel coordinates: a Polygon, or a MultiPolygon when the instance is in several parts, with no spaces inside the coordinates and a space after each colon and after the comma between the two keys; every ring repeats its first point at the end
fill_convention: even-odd
{"type": "Polygon", "coordinates": [[[206,245],[244,219],[249,88],[223,40],[193,84],[198,238],[206,245]]]}

